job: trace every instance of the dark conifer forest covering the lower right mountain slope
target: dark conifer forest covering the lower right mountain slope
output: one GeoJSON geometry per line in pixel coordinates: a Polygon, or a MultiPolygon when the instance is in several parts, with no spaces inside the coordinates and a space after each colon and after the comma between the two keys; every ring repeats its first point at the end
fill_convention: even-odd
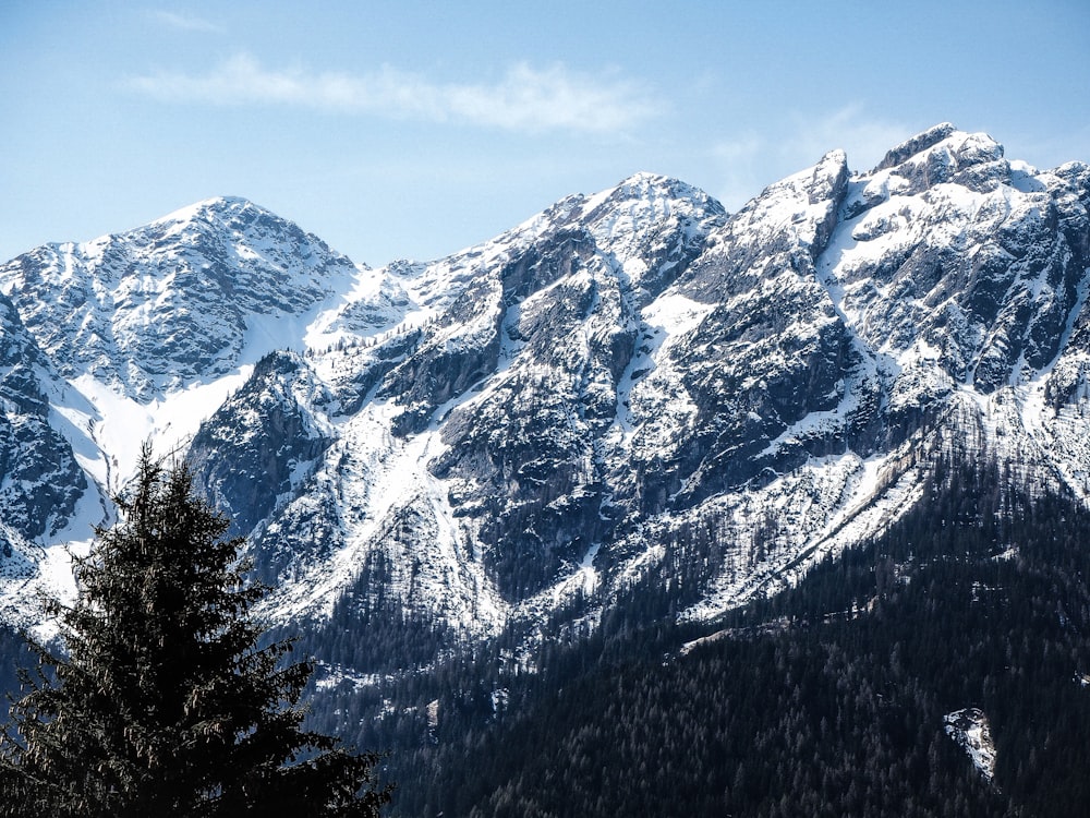
{"type": "Polygon", "coordinates": [[[395,813],[1086,814],[1090,513],[992,466],[940,468],[928,491],[882,538],[711,633],[637,626],[632,611],[669,608],[649,588],[536,674],[450,667],[404,686],[417,710],[385,736],[403,747],[395,813]],[[944,732],[965,707],[990,720],[994,782],[944,732]]]}

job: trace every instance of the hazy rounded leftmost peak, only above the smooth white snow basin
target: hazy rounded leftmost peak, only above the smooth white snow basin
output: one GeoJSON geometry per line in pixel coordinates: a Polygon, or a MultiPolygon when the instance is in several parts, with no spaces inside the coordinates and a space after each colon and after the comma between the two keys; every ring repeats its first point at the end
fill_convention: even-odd
{"type": "Polygon", "coordinates": [[[253,363],[282,337],[268,320],[305,326],[358,273],[268,210],[213,199],[117,236],[38,248],[0,266],[0,290],[65,376],[89,374],[147,404],[253,363]]]}

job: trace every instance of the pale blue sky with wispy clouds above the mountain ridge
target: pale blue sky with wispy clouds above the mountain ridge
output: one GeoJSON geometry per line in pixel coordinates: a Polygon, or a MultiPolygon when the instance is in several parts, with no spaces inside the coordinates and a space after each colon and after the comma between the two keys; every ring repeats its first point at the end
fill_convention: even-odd
{"type": "Polygon", "coordinates": [[[1090,161],[1090,3],[0,0],[0,258],[215,195],[433,258],[640,170],[734,209],[942,121],[1090,161]]]}

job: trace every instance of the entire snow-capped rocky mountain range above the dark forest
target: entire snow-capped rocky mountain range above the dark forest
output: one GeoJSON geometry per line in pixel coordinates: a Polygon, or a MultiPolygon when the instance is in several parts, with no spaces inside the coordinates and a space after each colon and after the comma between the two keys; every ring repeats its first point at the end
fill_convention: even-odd
{"type": "Polygon", "coordinates": [[[53,474],[21,456],[4,491],[58,494],[28,542],[86,539],[154,435],[281,619],[532,647],[649,585],[711,618],[881,531],[942,457],[1086,501],[1088,214],[1086,165],[948,124],[737,214],[640,173],[380,269],[211,200],[0,266],[4,418],[53,474]]]}

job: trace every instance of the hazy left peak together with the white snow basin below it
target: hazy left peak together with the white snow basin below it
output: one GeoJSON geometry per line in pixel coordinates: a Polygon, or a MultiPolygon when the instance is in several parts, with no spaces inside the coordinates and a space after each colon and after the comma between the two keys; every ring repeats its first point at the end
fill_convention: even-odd
{"type": "Polygon", "coordinates": [[[366,270],[240,199],[0,265],[13,421],[0,492],[9,526],[35,543],[15,606],[38,580],[71,590],[48,568],[111,519],[107,497],[145,440],[186,444],[263,354],[293,344],[358,277],[366,270]]]}

